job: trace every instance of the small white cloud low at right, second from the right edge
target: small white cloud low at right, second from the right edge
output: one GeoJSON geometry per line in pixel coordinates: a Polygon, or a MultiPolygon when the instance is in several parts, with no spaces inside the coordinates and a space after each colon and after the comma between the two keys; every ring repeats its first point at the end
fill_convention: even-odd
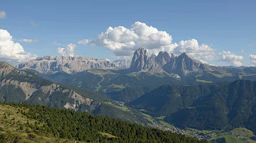
{"type": "Polygon", "coordinates": [[[226,62],[228,64],[232,64],[233,66],[242,66],[242,63],[240,62],[240,60],[242,59],[244,59],[244,57],[235,55],[230,51],[226,52],[224,50],[223,52],[219,53],[219,58],[218,58],[220,62],[226,62]]]}

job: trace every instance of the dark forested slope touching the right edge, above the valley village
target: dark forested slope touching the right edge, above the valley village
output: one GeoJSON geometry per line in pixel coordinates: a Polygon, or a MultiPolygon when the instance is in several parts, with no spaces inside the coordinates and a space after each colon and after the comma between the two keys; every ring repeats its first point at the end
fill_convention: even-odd
{"type": "Polygon", "coordinates": [[[256,131],[256,81],[238,80],[218,88],[193,105],[171,114],[166,121],[178,127],[233,129],[245,126],[256,131]]]}

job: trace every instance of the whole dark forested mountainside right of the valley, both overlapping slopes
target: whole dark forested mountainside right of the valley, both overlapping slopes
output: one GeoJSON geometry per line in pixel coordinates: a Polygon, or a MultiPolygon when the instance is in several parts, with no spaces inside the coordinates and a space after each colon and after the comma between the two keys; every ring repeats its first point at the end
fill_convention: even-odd
{"type": "Polygon", "coordinates": [[[176,127],[256,132],[256,81],[238,80],[191,86],[161,86],[127,105],[176,127]]]}

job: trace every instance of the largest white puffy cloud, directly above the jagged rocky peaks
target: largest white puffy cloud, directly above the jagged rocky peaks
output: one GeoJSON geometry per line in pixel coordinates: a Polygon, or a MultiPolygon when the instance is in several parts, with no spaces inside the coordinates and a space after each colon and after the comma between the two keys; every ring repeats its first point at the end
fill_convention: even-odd
{"type": "Polygon", "coordinates": [[[161,50],[170,53],[175,47],[169,33],[159,31],[139,21],[134,23],[130,29],[123,26],[109,27],[105,33],[101,33],[94,40],[81,40],[78,43],[92,47],[106,47],[116,56],[130,56],[139,47],[146,48],[149,53],[161,50]]]}

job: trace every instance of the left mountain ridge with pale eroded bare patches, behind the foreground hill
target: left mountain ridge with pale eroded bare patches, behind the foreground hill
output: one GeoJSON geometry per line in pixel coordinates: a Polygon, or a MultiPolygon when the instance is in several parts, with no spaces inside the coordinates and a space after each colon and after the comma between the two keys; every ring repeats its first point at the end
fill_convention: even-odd
{"type": "Polygon", "coordinates": [[[146,120],[136,111],[122,110],[115,101],[95,91],[48,81],[33,72],[22,71],[0,62],[0,102],[31,103],[66,108],[138,122],[146,120]],[[107,112],[106,112],[107,111],[107,112]]]}

